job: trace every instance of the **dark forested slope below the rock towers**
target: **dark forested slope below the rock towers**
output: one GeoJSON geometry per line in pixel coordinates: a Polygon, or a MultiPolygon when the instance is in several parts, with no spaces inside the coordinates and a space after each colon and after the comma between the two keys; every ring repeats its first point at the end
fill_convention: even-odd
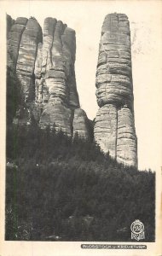
{"type": "Polygon", "coordinates": [[[131,241],[140,219],[154,241],[154,172],[37,125],[9,125],[6,154],[6,240],[131,241]]]}

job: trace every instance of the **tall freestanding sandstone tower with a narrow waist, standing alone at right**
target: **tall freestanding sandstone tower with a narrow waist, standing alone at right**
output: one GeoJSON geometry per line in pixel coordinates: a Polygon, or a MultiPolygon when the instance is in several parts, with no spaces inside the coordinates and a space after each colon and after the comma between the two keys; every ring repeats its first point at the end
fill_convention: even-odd
{"type": "Polygon", "coordinates": [[[137,166],[130,25],[126,15],[105,17],[95,85],[100,107],[95,117],[95,142],[117,161],[137,166]]]}

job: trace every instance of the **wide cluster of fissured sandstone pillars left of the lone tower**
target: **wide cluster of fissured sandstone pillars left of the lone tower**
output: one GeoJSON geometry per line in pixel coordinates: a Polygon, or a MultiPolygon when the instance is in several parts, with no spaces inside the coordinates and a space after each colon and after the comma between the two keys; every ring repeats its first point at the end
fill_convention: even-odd
{"type": "Polygon", "coordinates": [[[23,104],[15,124],[36,121],[68,136],[90,138],[90,122],[79,106],[75,79],[75,32],[46,18],[42,28],[31,17],[7,16],[8,67],[20,81],[23,104]]]}

